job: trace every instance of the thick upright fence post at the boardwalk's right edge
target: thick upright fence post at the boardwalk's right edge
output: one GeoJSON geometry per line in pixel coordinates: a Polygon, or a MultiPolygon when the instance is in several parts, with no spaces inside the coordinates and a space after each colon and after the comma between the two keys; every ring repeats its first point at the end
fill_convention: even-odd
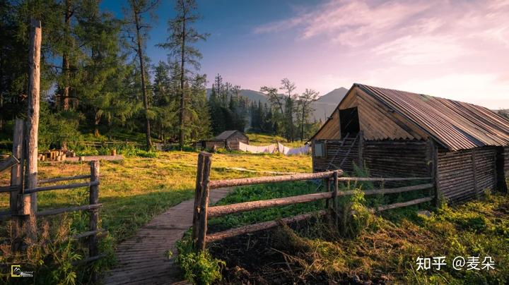
{"type": "Polygon", "coordinates": [[[199,212],[199,231],[198,231],[198,250],[205,250],[206,246],[206,231],[207,231],[207,210],[209,207],[209,181],[211,171],[211,154],[203,152],[204,154],[204,170],[203,180],[201,183],[201,198],[200,198],[200,212],[199,212]]]}

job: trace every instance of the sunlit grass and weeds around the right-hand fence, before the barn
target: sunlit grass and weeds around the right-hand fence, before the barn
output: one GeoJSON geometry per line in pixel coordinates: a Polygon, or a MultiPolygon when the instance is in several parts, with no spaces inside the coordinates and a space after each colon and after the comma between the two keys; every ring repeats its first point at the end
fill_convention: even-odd
{"type": "MultiPolygon", "coordinates": [[[[363,189],[370,187],[363,185],[363,189]]],[[[315,189],[312,183],[303,182],[245,186],[235,189],[220,204],[301,195],[312,193],[315,189]]],[[[364,198],[359,193],[342,198],[341,205],[355,210],[357,214],[349,216],[346,229],[341,229],[341,232],[330,234],[327,224],[309,225],[312,230],[299,227],[297,231],[292,231],[283,227],[273,234],[260,234],[259,238],[254,234],[249,238],[239,237],[235,241],[210,245],[213,248],[212,256],[227,261],[227,269],[223,273],[232,283],[247,280],[261,283],[275,280],[283,283],[320,283],[323,280],[351,281],[360,277],[361,280],[396,284],[507,284],[508,196],[488,194],[483,200],[456,207],[443,205],[431,217],[416,213],[419,208],[433,209],[429,203],[389,210],[381,216],[365,210],[366,207],[387,201],[411,200],[423,194],[364,198]],[[418,271],[416,258],[419,256],[445,256],[447,265],[440,271],[418,271]],[[480,256],[481,262],[484,257],[490,256],[496,262],[496,269],[457,271],[451,265],[456,256],[465,259],[480,256]],[[257,263],[252,260],[261,261],[257,263]],[[281,269],[277,269],[278,266],[281,269]]],[[[210,231],[222,231],[323,208],[323,202],[311,202],[228,214],[211,219],[210,231]]]]}

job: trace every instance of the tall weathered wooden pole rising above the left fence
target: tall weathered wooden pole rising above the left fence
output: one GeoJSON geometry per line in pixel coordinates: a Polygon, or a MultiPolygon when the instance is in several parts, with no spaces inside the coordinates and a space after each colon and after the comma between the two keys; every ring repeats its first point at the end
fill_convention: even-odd
{"type": "MultiPolygon", "coordinates": [[[[39,101],[40,101],[40,47],[42,29],[40,20],[30,21],[30,49],[28,50],[28,120],[26,132],[26,169],[25,188],[37,187],[37,140],[39,138],[39,101]]],[[[28,235],[35,238],[37,226],[35,213],[37,212],[37,193],[23,195],[23,214],[30,215],[28,235]]]]}

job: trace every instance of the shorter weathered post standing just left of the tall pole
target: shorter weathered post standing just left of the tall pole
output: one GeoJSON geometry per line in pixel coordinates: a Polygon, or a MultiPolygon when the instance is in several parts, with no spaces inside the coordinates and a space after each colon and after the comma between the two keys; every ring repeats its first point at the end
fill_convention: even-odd
{"type": "Polygon", "coordinates": [[[25,121],[22,119],[16,119],[14,123],[14,135],[13,135],[13,157],[16,157],[19,160],[19,164],[13,166],[11,169],[11,186],[18,186],[20,189],[13,190],[11,192],[11,197],[9,199],[9,205],[11,207],[11,217],[14,223],[12,236],[16,239],[16,242],[13,243],[13,250],[18,249],[18,238],[21,238],[21,219],[18,216],[18,195],[21,193],[21,187],[23,187],[23,165],[25,164],[25,152],[23,150],[23,134],[25,129],[25,121]]]}

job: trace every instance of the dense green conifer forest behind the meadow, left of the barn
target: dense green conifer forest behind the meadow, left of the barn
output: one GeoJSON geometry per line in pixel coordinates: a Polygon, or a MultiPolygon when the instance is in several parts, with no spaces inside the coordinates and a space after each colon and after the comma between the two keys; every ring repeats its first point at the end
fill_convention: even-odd
{"type": "Polygon", "coordinates": [[[194,23],[195,0],[175,1],[175,18],[158,47],[168,61],[146,56],[152,15],[159,2],[128,0],[117,18],[96,0],[0,0],[0,133],[11,136],[12,121],[25,116],[30,19],[42,23],[40,146],[66,147],[87,135],[125,139],[144,133],[147,147],[157,138],[187,142],[236,129],[308,138],[317,92],[295,94],[282,81],[262,87],[269,104],[240,96],[240,86],[213,80],[207,99],[206,75],[199,72],[195,43],[209,36],[194,23]]]}

